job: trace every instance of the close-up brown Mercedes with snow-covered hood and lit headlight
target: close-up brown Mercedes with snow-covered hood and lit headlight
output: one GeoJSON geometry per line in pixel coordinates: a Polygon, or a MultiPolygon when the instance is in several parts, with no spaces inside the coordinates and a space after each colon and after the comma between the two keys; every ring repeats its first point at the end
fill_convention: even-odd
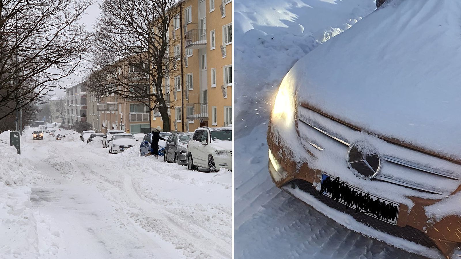
{"type": "MultiPolygon", "coordinates": [[[[445,32],[460,26],[437,24],[459,11],[389,2],[286,74],[268,124],[268,172],[351,230],[459,259],[461,43],[445,32]],[[411,23],[395,16],[408,12],[411,23]]],[[[296,207],[302,217],[307,208],[296,207]]]]}

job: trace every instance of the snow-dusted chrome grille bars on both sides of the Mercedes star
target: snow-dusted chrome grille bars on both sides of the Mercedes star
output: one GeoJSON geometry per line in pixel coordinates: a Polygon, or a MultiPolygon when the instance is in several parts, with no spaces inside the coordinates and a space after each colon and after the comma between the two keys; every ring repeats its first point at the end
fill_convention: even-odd
{"type": "MultiPolygon", "coordinates": [[[[338,143],[342,144],[344,147],[349,147],[352,142],[356,141],[357,134],[362,134],[360,130],[350,127],[349,125],[340,123],[328,116],[325,116],[324,114],[313,111],[304,106],[298,107],[298,123],[304,124],[307,127],[318,132],[319,134],[327,136],[329,139],[333,139],[337,141],[338,143]],[[338,131],[341,131],[341,133],[333,132],[332,129],[340,129],[338,131]]],[[[322,143],[318,142],[315,138],[313,138],[313,136],[303,135],[302,132],[300,132],[300,135],[301,137],[305,137],[305,141],[307,141],[308,144],[317,148],[319,152],[323,152],[324,148],[322,147],[322,143]]],[[[400,146],[397,146],[395,144],[391,144],[391,145],[396,146],[396,148],[397,147],[401,148],[400,146]]],[[[424,154],[424,153],[415,151],[410,148],[405,148],[405,149],[406,149],[405,152],[408,152],[409,154],[418,153],[418,154],[431,157],[431,159],[434,159],[433,156],[431,155],[424,154]]],[[[399,170],[399,168],[397,167],[401,166],[405,168],[404,171],[406,171],[408,174],[413,173],[412,171],[416,171],[419,173],[430,175],[431,179],[437,180],[436,177],[439,177],[439,178],[446,179],[450,181],[451,183],[453,183],[453,181],[456,181],[456,184],[459,185],[460,177],[457,173],[455,173],[455,171],[460,171],[461,166],[456,165],[447,160],[437,158],[438,159],[437,162],[439,160],[443,161],[447,165],[446,167],[449,167],[452,170],[448,170],[446,168],[445,169],[444,168],[432,168],[428,164],[424,164],[425,161],[423,163],[415,163],[415,162],[408,161],[406,159],[398,158],[392,153],[382,152],[381,157],[384,160],[384,164],[389,163],[393,166],[390,166],[390,165],[387,166],[386,172],[381,173],[377,177],[374,177],[372,180],[390,182],[392,184],[400,185],[406,188],[416,189],[416,190],[431,193],[431,194],[443,194],[443,186],[441,186],[440,188],[437,188],[437,186],[429,186],[430,184],[426,184],[426,183],[408,182],[408,181],[405,181],[404,179],[399,179],[398,176],[402,170],[399,170]]],[[[443,183],[445,182],[446,181],[444,180],[443,183]]],[[[455,186],[454,184],[450,184],[450,185],[455,186]]]]}

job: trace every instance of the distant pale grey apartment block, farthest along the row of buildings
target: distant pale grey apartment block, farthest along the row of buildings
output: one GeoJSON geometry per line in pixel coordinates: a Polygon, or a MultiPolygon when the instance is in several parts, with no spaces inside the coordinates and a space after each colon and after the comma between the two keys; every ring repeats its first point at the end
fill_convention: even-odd
{"type": "Polygon", "coordinates": [[[71,127],[76,122],[87,121],[86,97],[87,93],[83,83],[65,89],[66,126],[71,127]]]}

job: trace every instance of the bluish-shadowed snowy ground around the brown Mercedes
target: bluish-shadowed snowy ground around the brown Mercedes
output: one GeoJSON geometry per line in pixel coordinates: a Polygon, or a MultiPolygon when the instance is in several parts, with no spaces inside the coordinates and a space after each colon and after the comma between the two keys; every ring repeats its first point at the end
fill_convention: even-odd
{"type": "Polygon", "coordinates": [[[235,3],[235,258],[420,258],[350,231],[275,187],[267,122],[294,63],[373,12],[373,0],[235,3]]]}

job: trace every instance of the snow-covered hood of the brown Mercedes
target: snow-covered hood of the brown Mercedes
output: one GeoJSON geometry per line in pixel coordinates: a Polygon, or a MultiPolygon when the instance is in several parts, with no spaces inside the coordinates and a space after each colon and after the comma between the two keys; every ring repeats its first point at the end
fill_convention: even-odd
{"type": "Polygon", "coordinates": [[[386,138],[461,159],[461,1],[391,1],[300,59],[282,82],[386,138]]]}

